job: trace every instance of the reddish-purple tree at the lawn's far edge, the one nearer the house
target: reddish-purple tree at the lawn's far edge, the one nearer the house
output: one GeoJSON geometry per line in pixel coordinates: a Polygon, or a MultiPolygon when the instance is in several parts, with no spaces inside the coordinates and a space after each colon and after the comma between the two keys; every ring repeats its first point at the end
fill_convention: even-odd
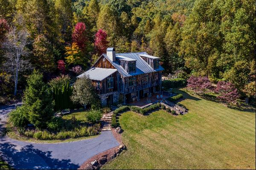
{"type": "Polygon", "coordinates": [[[190,76],[187,82],[187,88],[195,91],[195,94],[205,92],[212,87],[208,77],[190,76]]]}

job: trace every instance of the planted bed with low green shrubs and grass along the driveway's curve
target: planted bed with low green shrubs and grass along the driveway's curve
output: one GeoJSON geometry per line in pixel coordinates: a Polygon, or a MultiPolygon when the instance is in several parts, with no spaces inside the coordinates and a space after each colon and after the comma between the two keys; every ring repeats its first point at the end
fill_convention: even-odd
{"type": "Polygon", "coordinates": [[[17,129],[9,123],[7,135],[17,140],[40,143],[71,142],[96,136],[100,133],[100,124],[87,122],[86,113],[77,112],[58,118],[61,126],[57,130],[38,130],[34,127],[17,129]]]}

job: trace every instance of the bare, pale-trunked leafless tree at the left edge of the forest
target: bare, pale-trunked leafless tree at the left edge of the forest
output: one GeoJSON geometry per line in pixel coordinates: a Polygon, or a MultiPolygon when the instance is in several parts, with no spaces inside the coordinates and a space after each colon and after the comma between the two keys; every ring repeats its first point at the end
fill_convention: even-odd
{"type": "Polygon", "coordinates": [[[2,48],[5,50],[4,56],[6,57],[6,62],[4,63],[4,68],[7,72],[13,74],[15,89],[14,95],[17,94],[17,84],[18,75],[22,71],[31,69],[31,65],[28,60],[24,59],[29,55],[30,51],[26,47],[31,43],[29,40],[29,32],[23,26],[23,19],[18,18],[17,26],[12,26],[9,33],[6,36],[6,40],[2,44],[2,48]]]}

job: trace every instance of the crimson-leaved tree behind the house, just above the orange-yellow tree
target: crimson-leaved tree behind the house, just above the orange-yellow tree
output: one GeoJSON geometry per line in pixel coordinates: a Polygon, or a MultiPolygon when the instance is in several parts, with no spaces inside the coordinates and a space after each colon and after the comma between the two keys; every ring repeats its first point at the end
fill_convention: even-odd
{"type": "Polygon", "coordinates": [[[86,45],[86,27],[85,24],[80,22],[77,23],[72,34],[73,42],[76,42],[81,51],[84,51],[86,45]]]}

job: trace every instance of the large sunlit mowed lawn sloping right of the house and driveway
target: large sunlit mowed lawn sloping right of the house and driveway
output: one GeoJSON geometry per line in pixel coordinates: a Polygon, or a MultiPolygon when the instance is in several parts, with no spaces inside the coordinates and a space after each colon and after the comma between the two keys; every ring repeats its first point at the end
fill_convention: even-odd
{"type": "Polygon", "coordinates": [[[128,147],[102,169],[255,169],[255,110],[237,111],[184,91],[184,116],[119,116],[128,147]]]}

